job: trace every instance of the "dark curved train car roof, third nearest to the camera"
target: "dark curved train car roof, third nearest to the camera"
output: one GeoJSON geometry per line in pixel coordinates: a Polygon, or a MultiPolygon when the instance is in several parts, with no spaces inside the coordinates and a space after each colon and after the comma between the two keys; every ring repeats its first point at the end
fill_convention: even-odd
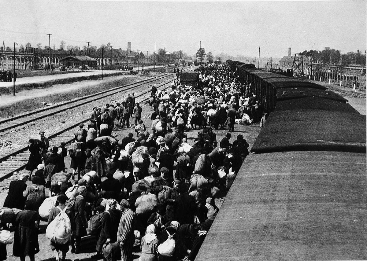
{"type": "Polygon", "coordinates": [[[327,110],[358,113],[349,103],[307,96],[289,100],[277,100],[274,111],[286,110],[327,110]]]}

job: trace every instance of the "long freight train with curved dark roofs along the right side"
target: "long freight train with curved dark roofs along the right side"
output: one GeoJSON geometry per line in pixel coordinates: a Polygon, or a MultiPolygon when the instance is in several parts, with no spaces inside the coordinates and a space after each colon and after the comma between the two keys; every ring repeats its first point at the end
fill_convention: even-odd
{"type": "Polygon", "coordinates": [[[195,260],[367,260],[366,116],[227,61],[269,114],[195,260]]]}

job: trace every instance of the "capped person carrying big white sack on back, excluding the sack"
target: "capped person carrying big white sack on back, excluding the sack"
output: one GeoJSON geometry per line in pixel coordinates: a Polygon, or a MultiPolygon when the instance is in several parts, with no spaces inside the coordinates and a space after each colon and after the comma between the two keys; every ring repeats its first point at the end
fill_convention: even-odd
{"type": "MultiPolygon", "coordinates": [[[[58,206],[53,207],[50,210],[50,215],[48,216],[48,222],[47,222],[48,224],[50,224],[51,221],[56,218],[56,216],[61,212],[61,210],[63,210],[68,215],[70,221],[73,219],[73,216],[70,211],[70,207],[65,206],[65,203],[67,200],[68,200],[68,197],[65,195],[60,195],[57,197],[58,206]]],[[[51,240],[50,246],[51,246],[51,250],[54,251],[56,260],[60,260],[59,251],[61,251],[62,253],[61,260],[65,261],[66,253],[69,251],[69,243],[58,244],[58,243],[52,242],[51,240]]]]}

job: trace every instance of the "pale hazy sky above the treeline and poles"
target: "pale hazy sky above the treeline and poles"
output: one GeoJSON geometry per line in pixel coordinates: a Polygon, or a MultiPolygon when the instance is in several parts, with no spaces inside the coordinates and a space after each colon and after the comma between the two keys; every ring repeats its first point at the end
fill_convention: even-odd
{"type": "Polygon", "coordinates": [[[154,51],[201,47],[213,54],[282,57],[324,47],[366,49],[366,0],[361,1],[14,1],[0,0],[0,40],[32,46],[106,44],[154,51]]]}

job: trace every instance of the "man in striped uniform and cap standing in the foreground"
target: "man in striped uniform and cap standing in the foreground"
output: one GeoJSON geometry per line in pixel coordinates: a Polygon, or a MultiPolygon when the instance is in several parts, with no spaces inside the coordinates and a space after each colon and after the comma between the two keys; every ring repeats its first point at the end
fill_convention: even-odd
{"type": "Polygon", "coordinates": [[[130,204],[126,199],[120,202],[122,216],[120,219],[119,229],[117,230],[117,242],[120,242],[121,261],[133,261],[132,250],[135,242],[134,212],[130,209],[130,204]]]}

